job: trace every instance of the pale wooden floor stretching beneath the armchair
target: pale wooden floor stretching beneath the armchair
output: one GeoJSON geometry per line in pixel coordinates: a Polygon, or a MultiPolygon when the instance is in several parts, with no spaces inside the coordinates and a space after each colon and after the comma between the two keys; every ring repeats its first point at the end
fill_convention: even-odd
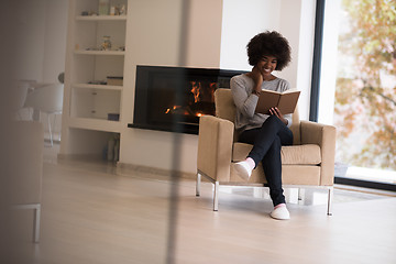
{"type": "MultiPolygon", "coordinates": [[[[396,263],[396,198],[334,190],[271,219],[266,191],[222,188],[91,162],[44,164],[41,242],[33,213],[14,213],[14,263],[396,263]],[[262,197],[260,197],[262,196],[262,197]],[[326,195],[324,195],[326,197],[326,195]]],[[[293,201],[293,194],[288,193],[293,201]]]]}

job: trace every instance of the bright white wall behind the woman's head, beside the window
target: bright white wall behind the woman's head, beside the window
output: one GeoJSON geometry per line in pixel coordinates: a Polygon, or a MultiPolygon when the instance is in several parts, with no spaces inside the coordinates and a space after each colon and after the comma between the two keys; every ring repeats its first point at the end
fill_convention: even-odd
{"type": "Polygon", "coordinates": [[[276,76],[301,90],[301,119],[309,117],[315,0],[223,0],[220,67],[250,70],[246,44],[257,33],[278,31],[292,46],[292,63],[276,76]]]}

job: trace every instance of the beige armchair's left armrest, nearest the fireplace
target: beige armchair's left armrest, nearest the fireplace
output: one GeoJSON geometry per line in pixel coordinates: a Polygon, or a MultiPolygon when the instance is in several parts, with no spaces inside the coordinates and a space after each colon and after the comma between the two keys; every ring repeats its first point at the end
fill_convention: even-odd
{"type": "Polygon", "coordinates": [[[234,124],[226,119],[202,116],[199,119],[199,172],[217,182],[230,180],[234,124]]]}

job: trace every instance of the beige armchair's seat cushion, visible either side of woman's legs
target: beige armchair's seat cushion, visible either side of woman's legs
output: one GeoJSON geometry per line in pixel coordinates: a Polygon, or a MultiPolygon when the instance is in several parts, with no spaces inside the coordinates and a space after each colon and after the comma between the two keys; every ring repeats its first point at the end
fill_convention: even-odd
{"type": "MultiPolygon", "coordinates": [[[[251,144],[234,143],[232,161],[243,161],[252,147],[251,144]]],[[[318,165],[321,163],[320,146],[316,144],[283,146],[280,156],[283,165],[318,165]]]]}

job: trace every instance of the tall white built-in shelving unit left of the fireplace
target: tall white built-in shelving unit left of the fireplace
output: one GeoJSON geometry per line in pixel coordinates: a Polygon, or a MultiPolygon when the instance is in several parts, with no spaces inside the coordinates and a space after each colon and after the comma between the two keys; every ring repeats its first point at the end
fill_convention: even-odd
{"type": "MultiPolygon", "coordinates": [[[[128,9],[128,0],[109,3],[128,9]]],[[[69,0],[68,26],[62,148],[97,152],[89,142],[84,148],[75,145],[82,134],[88,141],[100,138],[106,145],[107,134],[121,132],[124,88],[106,82],[108,77],[124,76],[127,14],[99,14],[99,0],[69,0]],[[110,37],[109,50],[102,48],[105,36],[110,37]]]]}

